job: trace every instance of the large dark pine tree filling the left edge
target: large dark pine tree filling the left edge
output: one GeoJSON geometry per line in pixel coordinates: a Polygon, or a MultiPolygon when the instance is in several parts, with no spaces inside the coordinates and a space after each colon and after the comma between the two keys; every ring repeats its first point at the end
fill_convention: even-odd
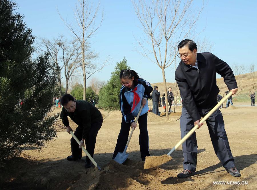
{"type": "Polygon", "coordinates": [[[58,117],[49,114],[56,70],[48,54],[31,61],[35,37],[16,10],[15,2],[0,1],[0,161],[25,146],[41,149],[56,135],[58,117]]]}

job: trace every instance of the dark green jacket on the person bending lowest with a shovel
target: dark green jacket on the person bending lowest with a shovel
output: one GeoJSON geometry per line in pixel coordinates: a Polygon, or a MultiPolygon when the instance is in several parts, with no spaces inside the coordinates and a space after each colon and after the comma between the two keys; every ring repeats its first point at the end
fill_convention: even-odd
{"type": "Polygon", "coordinates": [[[84,100],[76,100],[75,102],[75,112],[70,113],[63,107],[61,111],[61,119],[63,120],[63,124],[67,127],[69,126],[69,116],[78,126],[83,127],[82,138],[86,138],[91,128],[91,123],[102,119],[103,116],[93,104],[84,100]]]}

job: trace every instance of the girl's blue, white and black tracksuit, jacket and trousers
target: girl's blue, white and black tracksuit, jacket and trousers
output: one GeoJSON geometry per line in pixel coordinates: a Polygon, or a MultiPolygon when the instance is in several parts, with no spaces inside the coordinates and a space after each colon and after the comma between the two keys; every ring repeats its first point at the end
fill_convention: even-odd
{"type": "MultiPolygon", "coordinates": [[[[137,81],[134,81],[135,88],[137,87],[136,93],[138,94],[140,100],[134,110],[131,112],[133,106],[134,93],[130,88],[123,86],[120,93],[120,107],[122,112],[122,121],[121,121],[121,131],[119,133],[117,144],[113,153],[113,159],[115,159],[118,152],[123,152],[126,148],[128,141],[128,134],[130,130],[130,125],[134,122],[134,117],[137,116],[141,101],[143,97],[150,98],[150,92],[152,92],[152,86],[146,82],[144,79],[139,78],[137,81]]],[[[146,101],[147,102],[147,101],[146,101]]],[[[147,112],[148,112],[148,103],[144,105],[144,108],[141,111],[140,117],[138,118],[139,124],[139,146],[140,146],[140,155],[142,161],[145,160],[146,156],[150,156],[149,153],[149,136],[147,131],[147,112]]]]}

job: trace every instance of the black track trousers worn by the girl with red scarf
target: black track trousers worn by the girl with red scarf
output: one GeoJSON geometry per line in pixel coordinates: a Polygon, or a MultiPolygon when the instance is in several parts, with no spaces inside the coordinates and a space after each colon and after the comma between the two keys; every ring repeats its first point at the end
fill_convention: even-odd
{"type": "MultiPolygon", "coordinates": [[[[158,102],[157,102],[158,103],[158,102]]],[[[121,121],[121,131],[118,136],[117,144],[113,153],[113,159],[116,157],[118,152],[123,152],[128,142],[128,135],[130,130],[130,123],[126,123],[124,117],[121,121]]],[[[138,118],[139,125],[139,146],[142,161],[145,160],[146,156],[150,156],[149,153],[149,137],[147,131],[147,113],[138,118]]]]}

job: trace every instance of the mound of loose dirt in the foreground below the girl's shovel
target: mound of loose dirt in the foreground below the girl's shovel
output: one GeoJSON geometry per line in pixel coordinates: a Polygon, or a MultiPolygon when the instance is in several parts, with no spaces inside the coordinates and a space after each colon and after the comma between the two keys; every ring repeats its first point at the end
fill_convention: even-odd
{"type": "Polygon", "coordinates": [[[156,189],[154,183],[160,180],[156,175],[164,170],[157,167],[144,170],[143,164],[130,159],[123,164],[111,160],[102,171],[96,168],[85,171],[68,189],[156,189]]]}

